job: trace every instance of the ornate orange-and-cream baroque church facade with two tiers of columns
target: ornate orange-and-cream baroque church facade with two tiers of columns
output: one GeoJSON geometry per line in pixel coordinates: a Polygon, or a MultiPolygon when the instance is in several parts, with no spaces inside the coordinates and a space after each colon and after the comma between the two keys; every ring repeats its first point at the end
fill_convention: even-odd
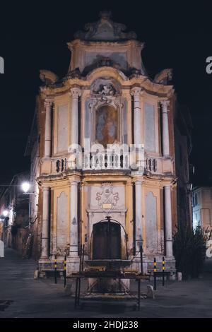
{"type": "Polygon", "coordinates": [[[154,257],[161,262],[165,256],[175,275],[172,72],[149,78],[144,45],[125,29],[102,12],[68,43],[64,78],[40,71],[34,167],[40,273],[51,270],[55,254],[62,268],[64,253],[67,274],[78,271],[84,245],[85,261],[132,260],[137,269],[142,247],[144,273],[153,270],[154,257]]]}

